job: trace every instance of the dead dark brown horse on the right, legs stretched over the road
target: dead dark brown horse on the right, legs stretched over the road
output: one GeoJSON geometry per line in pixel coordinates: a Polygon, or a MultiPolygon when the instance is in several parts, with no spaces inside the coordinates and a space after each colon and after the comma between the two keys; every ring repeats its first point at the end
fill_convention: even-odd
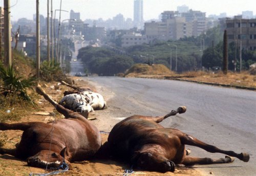
{"type": "Polygon", "coordinates": [[[159,172],[174,171],[175,164],[231,163],[232,157],[244,162],[249,161],[249,155],[246,153],[237,154],[222,150],[177,129],[163,128],[159,124],[163,119],[185,111],[185,107],[180,107],[165,116],[134,115],[120,121],[109,134],[108,146],[111,155],[130,162],[135,169],[159,172]],[[231,157],[220,159],[188,157],[185,145],[198,146],[207,152],[222,153],[231,157]]]}

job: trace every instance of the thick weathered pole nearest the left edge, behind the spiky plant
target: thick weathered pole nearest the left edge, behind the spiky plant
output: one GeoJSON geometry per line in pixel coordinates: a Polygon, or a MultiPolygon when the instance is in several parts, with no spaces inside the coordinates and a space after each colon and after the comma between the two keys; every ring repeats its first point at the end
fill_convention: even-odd
{"type": "Polygon", "coordinates": [[[4,0],[5,58],[6,66],[12,65],[10,0],[4,0]]]}

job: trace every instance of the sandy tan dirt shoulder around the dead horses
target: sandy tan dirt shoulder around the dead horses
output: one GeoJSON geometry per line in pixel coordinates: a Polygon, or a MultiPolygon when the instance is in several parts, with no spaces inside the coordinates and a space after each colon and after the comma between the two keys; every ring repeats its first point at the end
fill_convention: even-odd
{"type": "MultiPolygon", "coordinates": [[[[78,79],[78,78],[75,78],[78,79]]],[[[76,80],[76,82],[78,82],[76,80]]],[[[44,87],[44,90],[48,94],[50,94],[53,99],[59,100],[62,97],[62,92],[70,89],[66,86],[59,86],[59,90],[54,90],[50,88],[52,85],[56,85],[57,83],[48,83],[48,87],[44,87]]],[[[80,85],[85,86],[85,82],[80,83],[80,85]]],[[[114,124],[118,121],[116,118],[112,118],[115,116],[115,113],[121,113],[121,109],[118,107],[113,107],[111,104],[108,105],[108,102],[115,95],[110,90],[106,90],[102,87],[95,88],[104,96],[107,102],[107,109],[95,111],[95,113],[91,113],[89,118],[95,118],[91,120],[92,123],[96,125],[96,127],[102,131],[102,143],[104,143],[108,138],[108,133],[113,128],[114,124]]],[[[32,112],[31,115],[27,117],[23,117],[20,121],[44,121],[47,122],[49,118],[61,118],[60,114],[52,115],[54,107],[50,105],[44,98],[38,100],[38,106],[40,110],[37,112],[32,112]],[[50,113],[50,115],[48,114],[50,113]]],[[[119,119],[121,120],[121,119],[119,119]]],[[[14,148],[15,144],[20,141],[22,135],[22,131],[0,131],[0,140],[5,140],[6,144],[4,147],[6,148],[14,148]]],[[[83,161],[79,163],[72,163],[72,170],[69,170],[64,173],[60,173],[58,175],[128,175],[125,174],[125,169],[129,169],[129,165],[125,163],[115,162],[112,160],[92,160],[92,161],[83,161]]],[[[29,175],[30,173],[48,173],[51,170],[45,170],[35,167],[27,166],[26,161],[18,160],[12,156],[8,155],[0,155],[0,175],[29,175]]],[[[210,174],[210,173],[209,173],[210,174]]],[[[33,175],[33,174],[32,174],[33,175]]],[[[187,168],[183,166],[176,167],[174,173],[166,172],[166,173],[158,173],[158,172],[147,172],[147,171],[134,171],[130,175],[203,175],[198,170],[193,168],[187,168]]]]}

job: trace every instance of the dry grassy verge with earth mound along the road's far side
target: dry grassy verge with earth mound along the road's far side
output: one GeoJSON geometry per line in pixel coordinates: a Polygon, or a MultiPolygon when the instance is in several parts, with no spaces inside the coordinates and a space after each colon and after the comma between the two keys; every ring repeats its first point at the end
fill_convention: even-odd
{"type": "Polygon", "coordinates": [[[205,82],[256,88],[256,75],[251,71],[242,71],[242,73],[228,71],[227,74],[223,74],[221,70],[187,71],[178,74],[174,71],[170,71],[166,66],[161,64],[135,64],[133,67],[126,71],[124,77],[181,79],[196,81],[199,83],[205,82]]]}

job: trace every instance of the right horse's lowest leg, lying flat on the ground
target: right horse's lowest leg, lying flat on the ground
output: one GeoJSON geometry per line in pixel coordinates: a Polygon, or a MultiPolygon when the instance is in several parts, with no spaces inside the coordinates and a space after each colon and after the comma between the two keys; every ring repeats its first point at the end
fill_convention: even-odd
{"type": "Polygon", "coordinates": [[[196,157],[185,157],[181,164],[186,166],[194,164],[222,164],[222,163],[232,163],[234,161],[233,157],[226,156],[225,158],[211,159],[211,158],[196,158],[196,157]]]}

